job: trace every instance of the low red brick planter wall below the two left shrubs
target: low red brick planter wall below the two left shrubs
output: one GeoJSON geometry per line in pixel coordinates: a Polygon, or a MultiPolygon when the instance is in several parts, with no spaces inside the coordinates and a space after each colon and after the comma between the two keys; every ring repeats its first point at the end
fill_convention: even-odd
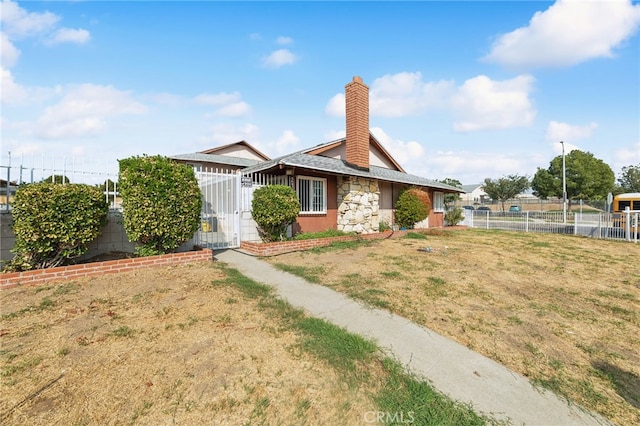
{"type": "Polygon", "coordinates": [[[0,274],[0,289],[15,287],[19,284],[43,284],[52,281],[89,277],[92,275],[113,274],[148,266],[169,266],[212,260],[213,250],[201,249],[198,251],[163,254],[159,256],[109,260],[106,262],[84,263],[25,272],[10,272],[0,274]]]}

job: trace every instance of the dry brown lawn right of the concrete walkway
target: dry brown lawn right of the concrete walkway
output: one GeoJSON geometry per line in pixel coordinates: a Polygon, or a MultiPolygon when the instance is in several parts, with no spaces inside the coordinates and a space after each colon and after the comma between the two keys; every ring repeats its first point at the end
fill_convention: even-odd
{"type": "Polygon", "coordinates": [[[640,424],[639,244],[470,229],[269,261],[640,424]]]}

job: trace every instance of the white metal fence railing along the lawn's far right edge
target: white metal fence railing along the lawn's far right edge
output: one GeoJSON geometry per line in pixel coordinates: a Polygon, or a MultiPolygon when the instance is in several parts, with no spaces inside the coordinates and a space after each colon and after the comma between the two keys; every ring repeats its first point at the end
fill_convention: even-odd
{"type": "Polygon", "coordinates": [[[639,210],[622,213],[567,212],[566,219],[562,212],[463,212],[465,217],[461,224],[470,228],[573,234],[636,243],[640,240],[639,210]]]}

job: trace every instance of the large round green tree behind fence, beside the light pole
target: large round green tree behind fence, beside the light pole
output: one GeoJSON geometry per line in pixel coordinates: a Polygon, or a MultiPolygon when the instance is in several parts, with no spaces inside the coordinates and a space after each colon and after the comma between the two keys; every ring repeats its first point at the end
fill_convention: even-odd
{"type": "MultiPolygon", "coordinates": [[[[574,149],[565,156],[567,199],[603,200],[613,191],[615,175],[611,167],[590,152],[574,149]]],[[[533,194],[540,198],[562,197],[562,156],[548,169],[538,168],[531,181],[533,194]]]]}

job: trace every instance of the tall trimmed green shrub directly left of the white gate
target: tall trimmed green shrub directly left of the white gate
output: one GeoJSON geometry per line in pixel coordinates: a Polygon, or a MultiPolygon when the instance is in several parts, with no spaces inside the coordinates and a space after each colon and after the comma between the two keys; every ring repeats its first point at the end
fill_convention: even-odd
{"type": "Polygon", "coordinates": [[[200,226],[202,194],[193,169],[163,156],[120,160],[124,229],[141,256],[164,254],[200,226]]]}

